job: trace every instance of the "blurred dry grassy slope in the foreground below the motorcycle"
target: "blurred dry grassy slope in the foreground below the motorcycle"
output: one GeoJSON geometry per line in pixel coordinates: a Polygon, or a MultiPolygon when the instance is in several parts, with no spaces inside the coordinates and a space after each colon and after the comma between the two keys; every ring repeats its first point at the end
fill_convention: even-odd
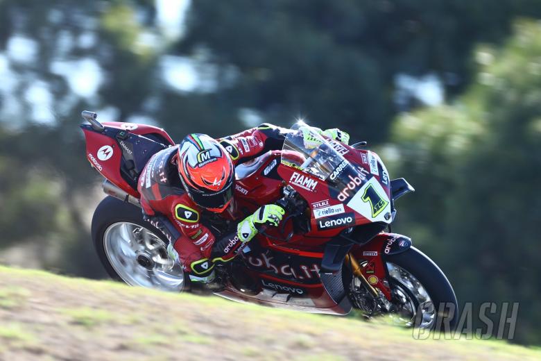
{"type": "Polygon", "coordinates": [[[504,342],[0,267],[0,360],[541,360],[504,342]]]}

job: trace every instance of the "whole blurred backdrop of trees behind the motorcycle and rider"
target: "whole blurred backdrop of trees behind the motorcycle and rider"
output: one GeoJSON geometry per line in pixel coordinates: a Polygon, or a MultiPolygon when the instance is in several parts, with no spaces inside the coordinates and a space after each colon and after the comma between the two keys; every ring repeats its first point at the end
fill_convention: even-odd
{"type": "Polygon", "coordinates": [[[418,190],[395,230],[539,343],[541,27],[517,17],[541,4],[0,0],[0,262],[104,275],[80,110],[176,140],[306,117],[376,144],[418,190]]]}

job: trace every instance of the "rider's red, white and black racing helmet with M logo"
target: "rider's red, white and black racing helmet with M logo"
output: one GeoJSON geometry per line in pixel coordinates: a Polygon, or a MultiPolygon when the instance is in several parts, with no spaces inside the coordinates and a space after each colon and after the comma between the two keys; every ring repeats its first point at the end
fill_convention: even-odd
{"type": "Polygon", "coordinates": [[[223,146],[206,134],[190,134],[178,146],[178,173],[184,189],[200,207],[223,212],[230,204],[234,166],[223,146]]]}

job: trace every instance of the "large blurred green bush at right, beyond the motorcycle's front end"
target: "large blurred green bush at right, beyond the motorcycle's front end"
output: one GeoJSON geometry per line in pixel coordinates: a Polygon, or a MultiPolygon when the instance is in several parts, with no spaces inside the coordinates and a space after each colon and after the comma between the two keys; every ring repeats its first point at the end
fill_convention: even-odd
{"type": "Polygon", "coordinates": [[[452,106],[393,127],[396,174],[418,188],[397,226],[446,270],[458,299],[520,301],[517,337],[537,343],[541,24],[516,22],[504,47],[477,47],[475,58],[474,83],[452,106]]]}

